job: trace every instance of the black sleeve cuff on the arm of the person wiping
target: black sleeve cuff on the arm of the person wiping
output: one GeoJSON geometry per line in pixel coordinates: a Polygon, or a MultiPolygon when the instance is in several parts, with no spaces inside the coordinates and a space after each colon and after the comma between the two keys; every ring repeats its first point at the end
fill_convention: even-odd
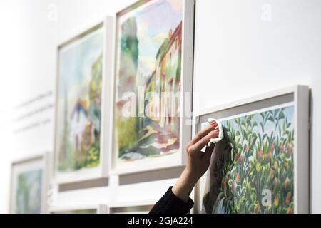
{"type": "Polygon", "coordinates": [[[170,187],[149,214],[187,214],[193,206],[192,199],[188,199],[187,203],[183,202],[173,194],[172,187],[170,187]]]}

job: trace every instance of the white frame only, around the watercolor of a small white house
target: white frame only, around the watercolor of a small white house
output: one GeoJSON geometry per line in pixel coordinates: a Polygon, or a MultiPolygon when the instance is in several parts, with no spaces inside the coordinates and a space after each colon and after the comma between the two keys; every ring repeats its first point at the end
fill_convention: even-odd
{"type": "Polygon", "coordinates": [[[110,90],[111,90],[111,62],[112,62],[112,46],[113,46],[113,16],[106,16],[98,24],[94,24],[86,31],[78,33],[77,36],[68,39],[68,41],[61,43],[57,49],[57,76],[56,76],[56,100],[58,100],[58,72],[59,72],[59,49],[67,46],[78,38],[82,38],[90,34],[96,29],[103,28],[103,71],[102,71],[102,95],[101,95],[101,140],[100,140],[100,163],[98,167],[93,169],[78,170],[68,173],[59,173],[56,165],[58,162],[58,148],[57,148],[57,113],[58,102],[55,107],[55,133],[54,133],[54,159],[52,165],[53,180],[56,184],[68,184],[72,182],[83,182],[88,180],[96,180],[101,178],[107,178],[109,175],[109,162],[108,162],[108,138],[109,135],[109,114],[108,108],[110,106],[110,90]]]}

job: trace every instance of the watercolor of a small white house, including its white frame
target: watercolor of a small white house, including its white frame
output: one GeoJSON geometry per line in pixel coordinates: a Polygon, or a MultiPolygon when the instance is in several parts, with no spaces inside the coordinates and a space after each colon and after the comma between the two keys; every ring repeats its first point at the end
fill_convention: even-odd
{"type": "Polygon", "coordinates": [[[108,176],[108,102],[113,19],[58,47],[54,179],[108,176]]]}

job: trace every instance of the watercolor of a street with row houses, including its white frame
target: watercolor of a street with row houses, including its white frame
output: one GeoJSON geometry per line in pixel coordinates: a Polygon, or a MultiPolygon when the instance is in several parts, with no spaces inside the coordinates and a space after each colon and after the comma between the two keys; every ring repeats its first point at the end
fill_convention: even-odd
{"type": "Polygon", "coordinates": [[[111,160],[117,174],[185,164],[194,5],[141,0],[116,14],[111,160]]]}

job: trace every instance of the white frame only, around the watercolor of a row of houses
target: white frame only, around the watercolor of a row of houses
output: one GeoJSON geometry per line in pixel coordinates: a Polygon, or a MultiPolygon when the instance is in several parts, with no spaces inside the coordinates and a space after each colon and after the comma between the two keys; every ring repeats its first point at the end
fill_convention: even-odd
{"type": "Polygon", "coordinates": [[[136,160],[126,165],[118,165],[118,148],[116,147],[116,123],[115,117],[115,102],[116,102],[116,59],[117,59],[117,44],[118,44],[118,16],[131,8],[137,9],[144,4],[151,4],[157,0],[140,0],[127,8],[118,11],[114,21],[114,43],[113,46],[113,90],[111,94],[111,111],[113,117],[110,122],[113,123],[110,128],[111,135],[111,173],[114,175],[126,175],[130,173],[146,172],[148,170],[162,170],[172,167],[182,167],[185,165],[185,147],[191,140],[192,135],[192,91],[193,91],[193,39],[194,39],[194,9],[195,0],[183,0],[183,28],[182,28],[182,62],[181,62],[181,93],[180,93],[180,113],[183,113],[180,118],[180,152],[170,159],[170,155],[158,157],[157,160],[150,157],[143,160],[136,160]],[[186,93],[190,96],[186,96],[186,93]],[[185,113],[190,114],[186,116],[185,113]],[[168,159],[166,159],[168,157],[168,159]],[[146,161],[148,160],[148,161],[146,161]]]}

